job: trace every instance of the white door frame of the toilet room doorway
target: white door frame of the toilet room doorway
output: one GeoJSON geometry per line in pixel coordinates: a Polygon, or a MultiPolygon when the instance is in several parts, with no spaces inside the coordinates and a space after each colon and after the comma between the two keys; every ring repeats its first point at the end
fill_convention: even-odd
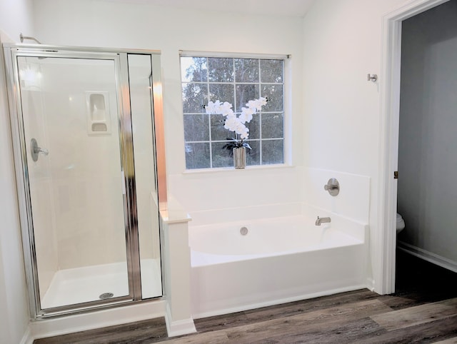
{"type": "Polygon", "coordinates": [[[378,293],[395,291],[396,206],[398,170],[398,123],[400,119],[401,22],[449,0],[413,0],[382,19],[382,64],[380,94],[380,151],[378,161],[378,233],[373,256],[381,257],[381,269],[373,276],[378,293]],[[379,254],[376,254],[379,253],[379,254]]]}

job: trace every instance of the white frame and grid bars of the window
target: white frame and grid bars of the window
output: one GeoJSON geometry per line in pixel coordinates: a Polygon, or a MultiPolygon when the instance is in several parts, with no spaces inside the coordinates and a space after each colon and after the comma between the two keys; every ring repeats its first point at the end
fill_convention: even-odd
{"type": "MultiPolygon", "coordinates": [[[[268,167],[281,167],[281,166],[290,166],[290,158],[291,158],[291,126],[290,126],[290,108],[291,108],[291,99],[290,99],[290,94],[291,94],[291,55],[290,54],[251,54],[251,53],[233,53],[233,52],[209,52],[209,51],[179,51],[179,66],[180,66],[180,86],[181,86],[181,111],[183,111],[183,123],[184,123],[184,106],[183,106],[183,96],[182,96],[182,87],[184,84],[186,84],[189,81],[185,81],[183,79],[183,74],[182,74],[182,63],[181,63],[181,57],[202,57],[202,58],[219,58],[219,59],[273,59],[273,60],[282,60],[283,61],[283,136],[282,136],[282,142],[283,142],[283,162],[282,163],[262,163],[262,157],[259,156],[259,161],[258,164],[254,165],[246,165],[246,168],[268,168],[268,167]]],[[[217,82],[213,82],[214,84],[218,84],[217,82]]],[[[236,81],[231,82],[235,85],[236,88],[236,81]]],[[[195,82],[195,84],[199,84],[198,82],[195,82]]],[[[211,84],[211,81],[204,81],[201,84],[211,84]]],[[[221,82],[221,84],[224,84],[221,82]]],[[[242,82],[239,84],[243,84],[242,82]]],[[[261,83],[261,81],[258,82],[259,85],[261,84],[270,84],[270,83],[261,83]]],[[[274,83],[271,83],[274,84],[274,83]]],[[[214,99],[216,100],[216,99],[214,99]]],[[[221,101],[225,101],[224,99],[219,99],[221,101]]],[[[236,104],[233,104],[234,110],[236,108],[236,104]]],[[[268,111],[268,113],[275,113],[276,111],[268,111]]],[[[189,113],[189,114],[196,114],[196,113],[189,113]]],[[[205,114],[202,112],[201,114],[205,114]]],[[[211,131],[211,123],[209,123],[209,130],[211,131]]],[[[185,139],[185,130],[183,131],[183,138],[184,138],[184,148],[186,146],[186,141],[185,139]]],[[[259,144],[262,141],[272,141],[272,140],[277,140],[278,138],[261,138],[259,137],[258,139],[252,139],[252,141],[256,141],[259,144]]],[[[249,139],[248,139],[249,140],[249,139]]],[[[213,143],[219,143],[221,142],[220,140],[212,140],[211,136],[209,137],[209,140],[204,140],[201,141],[201,143],[209,143],[209,162],[210,166],[209,167],[203,167],[203,168],[187,168],[187,163],[185,161],[185,172],[194,172],[194,171],[214,171],[214,170],[231,170],[229,166],[223,166],[223,167],[213,167],[213,153],[212,153],[212,144],[213,143]]],[[[199,143],[199,141],[195,141],[195,143],[199,143]]]]}

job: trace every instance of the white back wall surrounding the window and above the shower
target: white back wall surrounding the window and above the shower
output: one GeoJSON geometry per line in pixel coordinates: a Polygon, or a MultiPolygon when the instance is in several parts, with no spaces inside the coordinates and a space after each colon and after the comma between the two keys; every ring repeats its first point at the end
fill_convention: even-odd
{"type": "MultiPolygon", "coordinates": [[[[280,201],[274,195],[285,191],[298,198],[298,188],[293,186],[296,178],[290,178],[289,168],[226,171],[211,176],[182,173],[185,158],[179,50],[291,54],[291,137],[293,146],[301,147],[302,19],[85,0],[38,0],[34,19],[38,38],[47,44],[161,50],[169,190],[184,208],[203,210],[208,202],[213,208],[224,208],[226,203],[241,206],[265,202],[266,184],[271,190],[268,202],[280,201]]],[[[301,165],[300,149],[293,149],[292,161],[301,165]]]]}

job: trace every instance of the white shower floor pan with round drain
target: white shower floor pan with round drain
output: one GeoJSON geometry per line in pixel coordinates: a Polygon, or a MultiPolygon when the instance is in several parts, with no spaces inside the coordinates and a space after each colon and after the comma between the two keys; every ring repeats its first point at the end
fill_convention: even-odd
{"type": "MultiPolygon", "coordinates": [[[[144,299],[162,295],[159,260],[141,260],[141,290],[144,299]]],[[[126,263],[59,270],[41,300],[41,309],[126,295],[129,295],[126,263]]]]}

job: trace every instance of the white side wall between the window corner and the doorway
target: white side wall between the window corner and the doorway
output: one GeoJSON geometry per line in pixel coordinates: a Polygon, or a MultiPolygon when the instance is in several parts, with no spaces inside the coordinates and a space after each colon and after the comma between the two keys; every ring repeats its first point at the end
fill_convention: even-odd
{"type": "MultiPolygon", "coordinates": [[[[371,178],[371,267],[380,290],[378,228],[382,17],[406,0],[316,1],[304,19],[303,158],[311,168],[371,178]],[[376,256],[377,255],[377,256],[376,256]]],[[[341,185],[341,188],[344,188],[341,185]]]]}

